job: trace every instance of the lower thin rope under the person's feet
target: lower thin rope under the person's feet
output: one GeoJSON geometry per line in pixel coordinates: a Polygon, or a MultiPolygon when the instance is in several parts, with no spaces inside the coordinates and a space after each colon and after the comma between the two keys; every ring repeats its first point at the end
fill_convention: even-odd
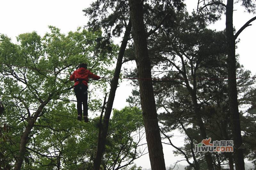
{"type": "MultiPolygon", "coordinates": [[[[27,109],[25,107],[21,107],[21,106],[17,106],[17,105],[13,105],[13,104],[7,104],[5,102],[3,102],[4,104],[6,105],[9,105],[9,106],[15,106],[15,107],[18,107],[18,108],[23,108],[23,109],[27,109]]],[[[37,111],[36,109],[30,109],[28,108],[29,110],[34,110],[34,111],[37,111]]],[[[57,114],[57,113],[51,113],[51,112],[46,112],[46,113],[50,113],[50,114],[54,114],[54,115],[57,115],[57,116],[62,116],[62,117],[67,117],[67,118],[71,118],[71,119],[76,119],[74,117],[71,117],[71,116],[66,116],[66,115],[61,115],[61,114],[57,114]]],[[[89,120],[94,120],[94,121],[99,121],[100,119],[89,119],[89,120]]],[[[179,120],[179,119],[102,119],[102,120],[109,120],[109,121],[175,121],[175,120],[179,120]]],[[[233,120],[233,121],[237,121],[239,119],[202,119],[203,121],[207,121],[207,120],[212,120],[212,121],[230,121],[230,120],[233,120]]],[[[183,119],[183,120],[179,120],[179,121],[199,121],[197,119],[193,119],[193,120],[189,120],[189,119],[183,119]]],[[[256,119],[240,119],[239,121],[256,121],[256,119]]]]}

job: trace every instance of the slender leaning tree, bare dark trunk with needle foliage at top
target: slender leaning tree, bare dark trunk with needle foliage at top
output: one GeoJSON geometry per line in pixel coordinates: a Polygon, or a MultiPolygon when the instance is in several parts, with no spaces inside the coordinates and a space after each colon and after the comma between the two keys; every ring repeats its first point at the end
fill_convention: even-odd
{"type": "MultiPolygon", "coordinates": [[[[173,1],[142,1],[143,13],[145,17],[145,25],[147,26],[148,35],[154,33],[164,22],[168,16],[174,18],[175,11],[181,10],[184,7],[182,0],[173,1]],[[152,19],[154,17],[155,19],[152,19]],[[153,22],[152,22],[153,21],[153,22]],[[154,22],[156,21],[156,22],[154,22]]],[[[132,30],[130,10],[129,10],[128,0],[118,0],[118,1],[106,1],[100,0],[95,1],[91,4],[91,7],[84,10],[85,15],[90,17],[90,22],[88,27],[90,29],[103,28],[106,37],[120,36],[124,33],[124,37],[120,46],[116,69],[114,73],[115,79],[111,81],[111,89],[109,92],[108,102],[106,106],[106,112],[104,114],[103,129],[101,131],[100,140],[98,143],[98,149],[96,153],[96,158],[94,159],[94,169],[100,168],[100,160],[102,158],[106,136],[108,133],[108,119],[112,111],[112,106],[115,98],[116,88],[118,85],[118,78],[120,76],[123,61],[124,51],[128,40],[130,40],[130,33],[132,30]],[[125,31],[124,31],[125,28],[125,31]],[[123,32],[124,31],[124,32],[123,32]]]]}

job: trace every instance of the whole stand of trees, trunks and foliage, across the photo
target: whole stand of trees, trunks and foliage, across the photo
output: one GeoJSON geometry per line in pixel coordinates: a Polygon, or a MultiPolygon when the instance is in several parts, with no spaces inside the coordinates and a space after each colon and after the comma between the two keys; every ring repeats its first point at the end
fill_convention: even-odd
{"type": "Polygon", "coordinates": [[[165,144],[186,169],[245,169],[244,160],[256,167],[255,76],[236,53],[256,17],[233,27],[235,3],[250,13],[256,4],[204,0],[189,13],[185,2],[97,0],[76,31],[49,26],[16,42],[0,34],[0,169],[141,170],[135,160],[149,154],[158,170],[165,144]],[[209,29],[223,14],[226,29],[209,29]],[[69,81],[80,63],[101,77],[88,82],[88,123],[76,120],[69,81]],[[133,90],[115,109],[122,78],[133,90]],[[234,141],[234,152],[197,153],[209,137],[234,141]]]}

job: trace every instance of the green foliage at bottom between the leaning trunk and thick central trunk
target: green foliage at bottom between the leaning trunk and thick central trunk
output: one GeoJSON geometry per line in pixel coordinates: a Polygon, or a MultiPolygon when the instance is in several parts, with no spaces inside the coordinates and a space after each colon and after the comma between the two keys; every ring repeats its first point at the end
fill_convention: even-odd
{"type": "Polygon", "coordinates": [[[143,122],[137,121],[142,120],[141,110],[137,107],[124,107],[120,111],[115,109],[112,119],[103,158],[103,165],[106,165],[107,169],[128,166],[144,154],[138,147],[143,137],[143,122]]]}

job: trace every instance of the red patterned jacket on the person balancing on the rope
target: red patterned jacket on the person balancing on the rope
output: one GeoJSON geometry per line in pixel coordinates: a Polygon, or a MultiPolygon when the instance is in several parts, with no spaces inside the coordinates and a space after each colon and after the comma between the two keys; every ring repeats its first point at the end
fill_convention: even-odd
{"type": "Polygon", "coordinates": [[[85,69],[84,67],[78,68],[74,73],[70,76],[70,81],[75,81],[74,86],[79,84],[79,81],[76,79],[84,79],[82,82],[85,86],[88,86],[89,78],[92,78],[94,80],[99,80],[100,76],[97,76],[93,73],[91,73],[89,70],[85,69]]]}

